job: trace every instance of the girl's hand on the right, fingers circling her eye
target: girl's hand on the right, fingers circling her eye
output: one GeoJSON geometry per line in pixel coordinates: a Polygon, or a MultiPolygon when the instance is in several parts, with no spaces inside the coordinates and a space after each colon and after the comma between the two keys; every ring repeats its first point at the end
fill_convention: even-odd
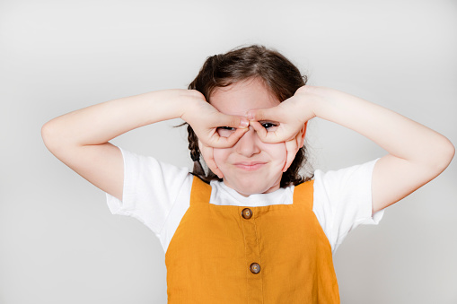
{"type": "Polygon", "coordinates": [[[294,96],[284,100],[277,107],[268,109],[250,110],[247,117],[250,126],[253,126],[264,143],[286,143],[286,164],[283,171],[289,168],[294,161],[295,154],[303,147],[306,124],[315,117],[312,111],[312,101],[318,96],[313,93],[314,88],[303,86],[294,96]],[[273,122],[276,128],[266,129],[259,122],[273,122]]]}

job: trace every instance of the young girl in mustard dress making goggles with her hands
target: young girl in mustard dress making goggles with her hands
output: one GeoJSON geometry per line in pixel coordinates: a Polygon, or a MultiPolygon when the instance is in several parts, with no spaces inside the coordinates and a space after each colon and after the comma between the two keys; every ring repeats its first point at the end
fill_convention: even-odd
{"type": "Polygon", "coordinates": [[[112,213],[136,217],[161,240],[170,303],[338,303],[332,252],[349,230],[377,223],[385,207],[440,174],[454,148],[389,109],[305,80],[276,51],[238,48],[207,58],[189,90],[80,109],[42,135],[107,193],[112,213]],[[192,173],[109,143],[176,117],[189,124],[192,173]],[[313,117],[388,153],[301,176],[313,117]]]}

